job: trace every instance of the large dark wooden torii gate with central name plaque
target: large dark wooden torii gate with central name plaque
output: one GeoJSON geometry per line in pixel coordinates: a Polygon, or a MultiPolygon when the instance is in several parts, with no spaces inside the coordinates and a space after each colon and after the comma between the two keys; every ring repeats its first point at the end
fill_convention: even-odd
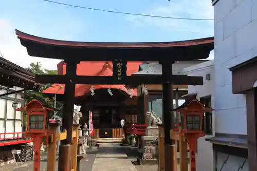
{"type": "Polygon", "coordinates": [[[72,115],[75,102],[76,84],[162,84],[163,125],[166,168],[172,170],[174,141],[170,139],[173,110],[172,84],[203,85],[202,77],[173,75],[172,64],[175,61],[207,59],[214,49],[214,37],[179,42],[149,43],[103,43],[71,42],[45,39],[16,30],[21,44],[27,48],[30,56],[61,59],[67,65],[65,75],[36,75],[37,83],[64,83],[64,108],[62,127],[67,130],[67,139],[61,142],[59,170],[70,170],[70,148],[72,135],[72,115]],[[80,61],[112,61],[113,76],[77,75],[80,61]],[[162,75],[127,76],[127,61],[158,61],[162,65],[162,75]],[[64,165],[65,163],[65,165],[64,165]]]}

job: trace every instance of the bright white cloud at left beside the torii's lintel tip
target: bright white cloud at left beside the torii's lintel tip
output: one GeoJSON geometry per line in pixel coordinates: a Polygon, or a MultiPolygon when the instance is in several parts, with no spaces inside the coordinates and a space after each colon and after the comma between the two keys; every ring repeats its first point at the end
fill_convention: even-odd
{"type": "Polygon", "coordinates": [[[41,62],[43,68],[57,69],[60,60],[36,58],[29,56],[27,50],[21,45],[17,39],[14,26],[0,18],[0,51],[6,60],[20,65],[21,67],[29,67],[31,62],[41,62]]]}

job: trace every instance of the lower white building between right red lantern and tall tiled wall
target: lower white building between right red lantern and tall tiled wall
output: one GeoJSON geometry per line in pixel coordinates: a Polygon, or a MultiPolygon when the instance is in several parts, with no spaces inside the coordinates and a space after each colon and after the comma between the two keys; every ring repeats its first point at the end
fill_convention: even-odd
{"type": "MultiPolygon", "coordinates": [[[[184,70],[189,76],[203,77],[204,86],[188,86],[188,93],[197,93],[196,98],[203,102],[204,99],[209,99],[211,108],[214,107],[215,102],[215,71],[214,61],[207,61],[184,70]]],[[[212,143],[206,141],[206,138],[213,137],[215,134],[215,119],[214,111],[205,116],[204,132],[205,137],[201,137],[197,141],[197,154],[196,154],[196,168],[199,171],[214,170],[214,155],[212,150],[212,143]]]]}

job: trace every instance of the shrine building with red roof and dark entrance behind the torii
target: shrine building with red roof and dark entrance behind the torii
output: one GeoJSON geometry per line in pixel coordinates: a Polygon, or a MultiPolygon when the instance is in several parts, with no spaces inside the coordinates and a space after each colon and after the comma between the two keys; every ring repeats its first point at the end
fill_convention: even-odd
{"type": "MultiPolygon", "coordinates": [[[[174,63],[173,73],[183,75],[183,69],[206,60],[181,61],[174,63]]],[[[58,74],[65,74],[66,64],[62,61],[58,65],[58,74]]],[[[113,75],[112,62],[82,61],[77,65],[78,75],[111,76],[113,75]]],[[[161,74],[161,65],[158,62],[128,62],[127,75],[161,74]]],[[[88,111],[93,112],[93,124],[96,138],[121,138],[122,128],[120,120],[125,120],[125,127],[132,124],[146,125],[146,111],[154,111],[160,118],[162,116],[162,88],[161,85],[145,85],[149,91],[148,96],[140,91],[139,86],[127,85],[85,85],[77,84],[75,90],[76,105],[81,106],[83,117],[80,119],[82,127],[88,123],[88,111]],[[111,89],[111,93],[108,92],[111,89]]],[[[58,94],[62,101],[64,84],[53,84],[44,93],[58,94]]],[[[187,93],[188,85],[173,85],[174,107],[179,105],[181,96],[187,93]]],[[[181,104],[183,103],[180,102],[181,104]]],[[[144,132],[142,132],[144,134],[144,132]]]]}

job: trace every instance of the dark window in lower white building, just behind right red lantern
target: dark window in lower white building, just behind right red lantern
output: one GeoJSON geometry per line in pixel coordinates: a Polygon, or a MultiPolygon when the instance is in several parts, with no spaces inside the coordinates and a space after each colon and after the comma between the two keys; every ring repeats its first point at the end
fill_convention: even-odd
{"type": "MultiPolygon", "coordinates": [[[[201,97],[200,102],[205,107],[211,108],[211,95],[201,97]]],[[[212,135],[212,113],[211,112],[204,113],[203,131],[205,132],[206,135],[212,135]]]]}

